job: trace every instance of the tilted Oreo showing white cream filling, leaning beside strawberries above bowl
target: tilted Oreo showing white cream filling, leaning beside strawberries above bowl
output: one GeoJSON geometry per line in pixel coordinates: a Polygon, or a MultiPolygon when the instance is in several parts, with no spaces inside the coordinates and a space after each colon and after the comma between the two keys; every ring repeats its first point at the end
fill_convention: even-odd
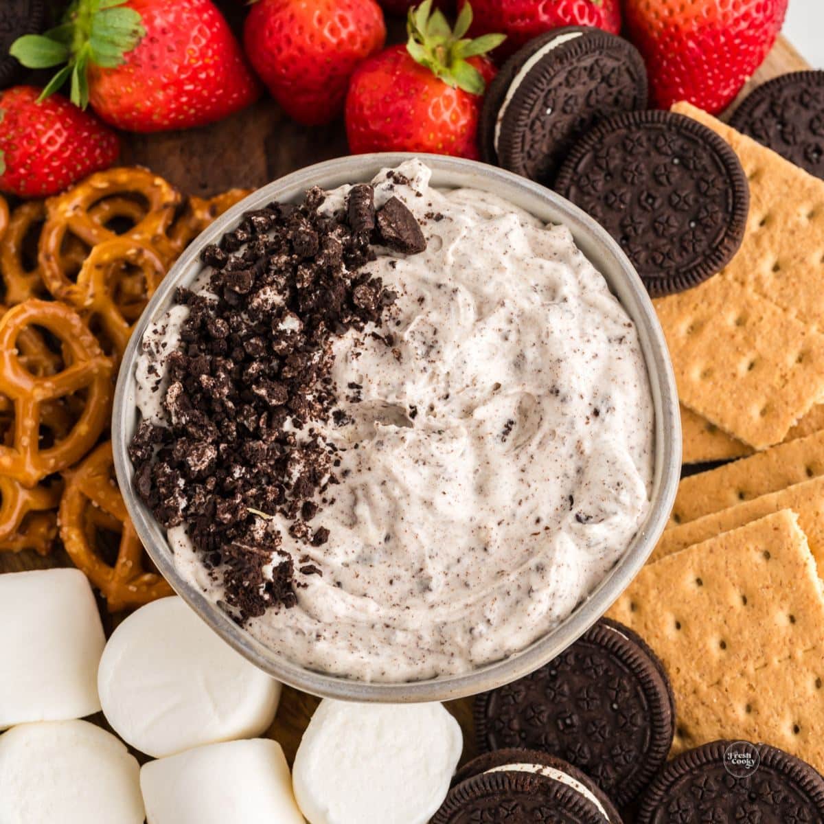
{"type": "Polygon", "coordinates": [[[513,54],[489,85],[481,156],[550,185],[594,124],[646,105],[647,72],[632,44],[593,28],[555,29],[513,54]]]}

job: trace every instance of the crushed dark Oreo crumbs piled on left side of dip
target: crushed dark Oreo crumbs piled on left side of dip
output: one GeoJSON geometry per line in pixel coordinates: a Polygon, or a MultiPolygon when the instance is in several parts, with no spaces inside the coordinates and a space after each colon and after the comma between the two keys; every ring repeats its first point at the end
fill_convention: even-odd
{"type": "Polygon", "coordinates": [[[371,186],[353,186],[335,216],[319,211],[324,200],[313,189],[300,206],[248,212],[204,249],[208,294],[176,293],[190,312],[166,358],[168,425],[144,421],[129,447],[138,495],[163,527],[185,525],[241,625],[294,606],[305,586],[297,574],[321,574],[296,566],[278,525],[307,547],[330,538],[310,522],[321,510],[314,499],[339,483],[339,460],[310,424],[344,414],[330,377],[333,339],[380,326],[396,299],[363,269],[375,260],[370,244],[426,246],[400,200],[376,213],[371,186]]]}

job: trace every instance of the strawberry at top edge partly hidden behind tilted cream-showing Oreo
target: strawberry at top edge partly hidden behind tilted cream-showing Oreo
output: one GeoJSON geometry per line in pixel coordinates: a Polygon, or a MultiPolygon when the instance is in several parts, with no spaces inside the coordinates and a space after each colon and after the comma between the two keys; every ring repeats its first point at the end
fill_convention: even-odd
{"type": "Polygon", "coordinates": [[[558,26],[597,26],[614,35],[620,31],[619,0],[472,0],[472,11],[473,34],[503,31],[507,35],[504,54],[558,26]]]}

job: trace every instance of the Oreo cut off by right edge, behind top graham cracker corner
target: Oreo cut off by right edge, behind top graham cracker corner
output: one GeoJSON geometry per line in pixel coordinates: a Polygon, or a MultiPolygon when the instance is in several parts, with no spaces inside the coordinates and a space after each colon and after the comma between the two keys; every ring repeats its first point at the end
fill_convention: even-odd
{"type": "Polygon", "coordinates": [[[775,77],[752,91],[729,122],[824,179],[824,72],[775,77]]]}

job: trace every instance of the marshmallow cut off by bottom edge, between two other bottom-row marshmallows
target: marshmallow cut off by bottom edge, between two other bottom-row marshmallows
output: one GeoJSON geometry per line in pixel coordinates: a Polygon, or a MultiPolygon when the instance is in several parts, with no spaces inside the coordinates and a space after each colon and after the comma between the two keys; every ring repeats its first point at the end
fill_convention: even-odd
{"type": "Polygon", "coordinates": [[[210,744],[140,770],[148,824],[304,824],[279,743],[210,744]]]}

